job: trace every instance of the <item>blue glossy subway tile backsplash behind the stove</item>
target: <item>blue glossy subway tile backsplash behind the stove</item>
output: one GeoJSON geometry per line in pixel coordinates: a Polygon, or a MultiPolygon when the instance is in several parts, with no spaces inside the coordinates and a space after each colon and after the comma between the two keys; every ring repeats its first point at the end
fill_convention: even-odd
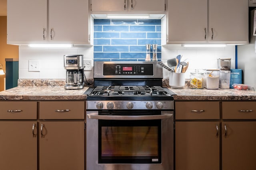
{"type": "Polygon", "coordinates": [[[148,43],[161,60],[161,20],[94,20],[94,61],[145,61],[148,43]]]}

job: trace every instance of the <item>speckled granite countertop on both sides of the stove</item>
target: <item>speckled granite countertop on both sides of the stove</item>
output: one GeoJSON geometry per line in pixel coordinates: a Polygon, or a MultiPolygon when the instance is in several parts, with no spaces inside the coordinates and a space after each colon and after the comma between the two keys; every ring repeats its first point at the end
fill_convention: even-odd
{"type": "MultiPolygon", "coordinates": [[[[91,81],[93,82],[93,81],[91,81]]],[[[92,84],[92,83],[91,83],[92,84]]],[[[76,90],[64,89],[65,80],[19,79],[18,87],[0,92],[0,100],[85,100],[89,87],[76,90]]],[[[182,89],[169,88],[176,93],[174,100],[232,100],[256,101],[255,91],[235,89],[182,89]]]]}

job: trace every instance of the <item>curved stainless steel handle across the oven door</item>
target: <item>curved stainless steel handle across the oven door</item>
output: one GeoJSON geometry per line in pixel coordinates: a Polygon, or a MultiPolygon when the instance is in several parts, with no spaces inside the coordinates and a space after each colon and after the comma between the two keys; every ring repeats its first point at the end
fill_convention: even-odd
{"type": "Polygon", "coordinates": [[[108,115],[98,115],[98,114],[87,114],[89,119],[100,119],[100,120],[124,120],[124,121],[134,121],[134,120],[156,120],[156,119],[170,119],[173,114],[167,115],[145,115],[145,116],[108,116],[108,115]]]}

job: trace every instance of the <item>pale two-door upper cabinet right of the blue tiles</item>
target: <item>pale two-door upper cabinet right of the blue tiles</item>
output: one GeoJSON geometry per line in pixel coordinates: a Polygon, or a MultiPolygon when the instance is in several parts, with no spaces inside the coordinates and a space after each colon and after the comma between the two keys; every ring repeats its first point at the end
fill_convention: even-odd
{"type": "Polygon", "coordinates": [[[169,44],[248,43],[245,0],[169,0],[169,44]]]}

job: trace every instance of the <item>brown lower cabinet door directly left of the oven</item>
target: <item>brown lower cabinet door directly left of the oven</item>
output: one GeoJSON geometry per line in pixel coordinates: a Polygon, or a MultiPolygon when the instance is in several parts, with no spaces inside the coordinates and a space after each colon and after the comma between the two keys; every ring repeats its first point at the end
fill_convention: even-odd
{"type": "Polygon", "coordinates": [[[40,170],[84,170],[84,121],[41,121],[39,135],[40,170]]]}

